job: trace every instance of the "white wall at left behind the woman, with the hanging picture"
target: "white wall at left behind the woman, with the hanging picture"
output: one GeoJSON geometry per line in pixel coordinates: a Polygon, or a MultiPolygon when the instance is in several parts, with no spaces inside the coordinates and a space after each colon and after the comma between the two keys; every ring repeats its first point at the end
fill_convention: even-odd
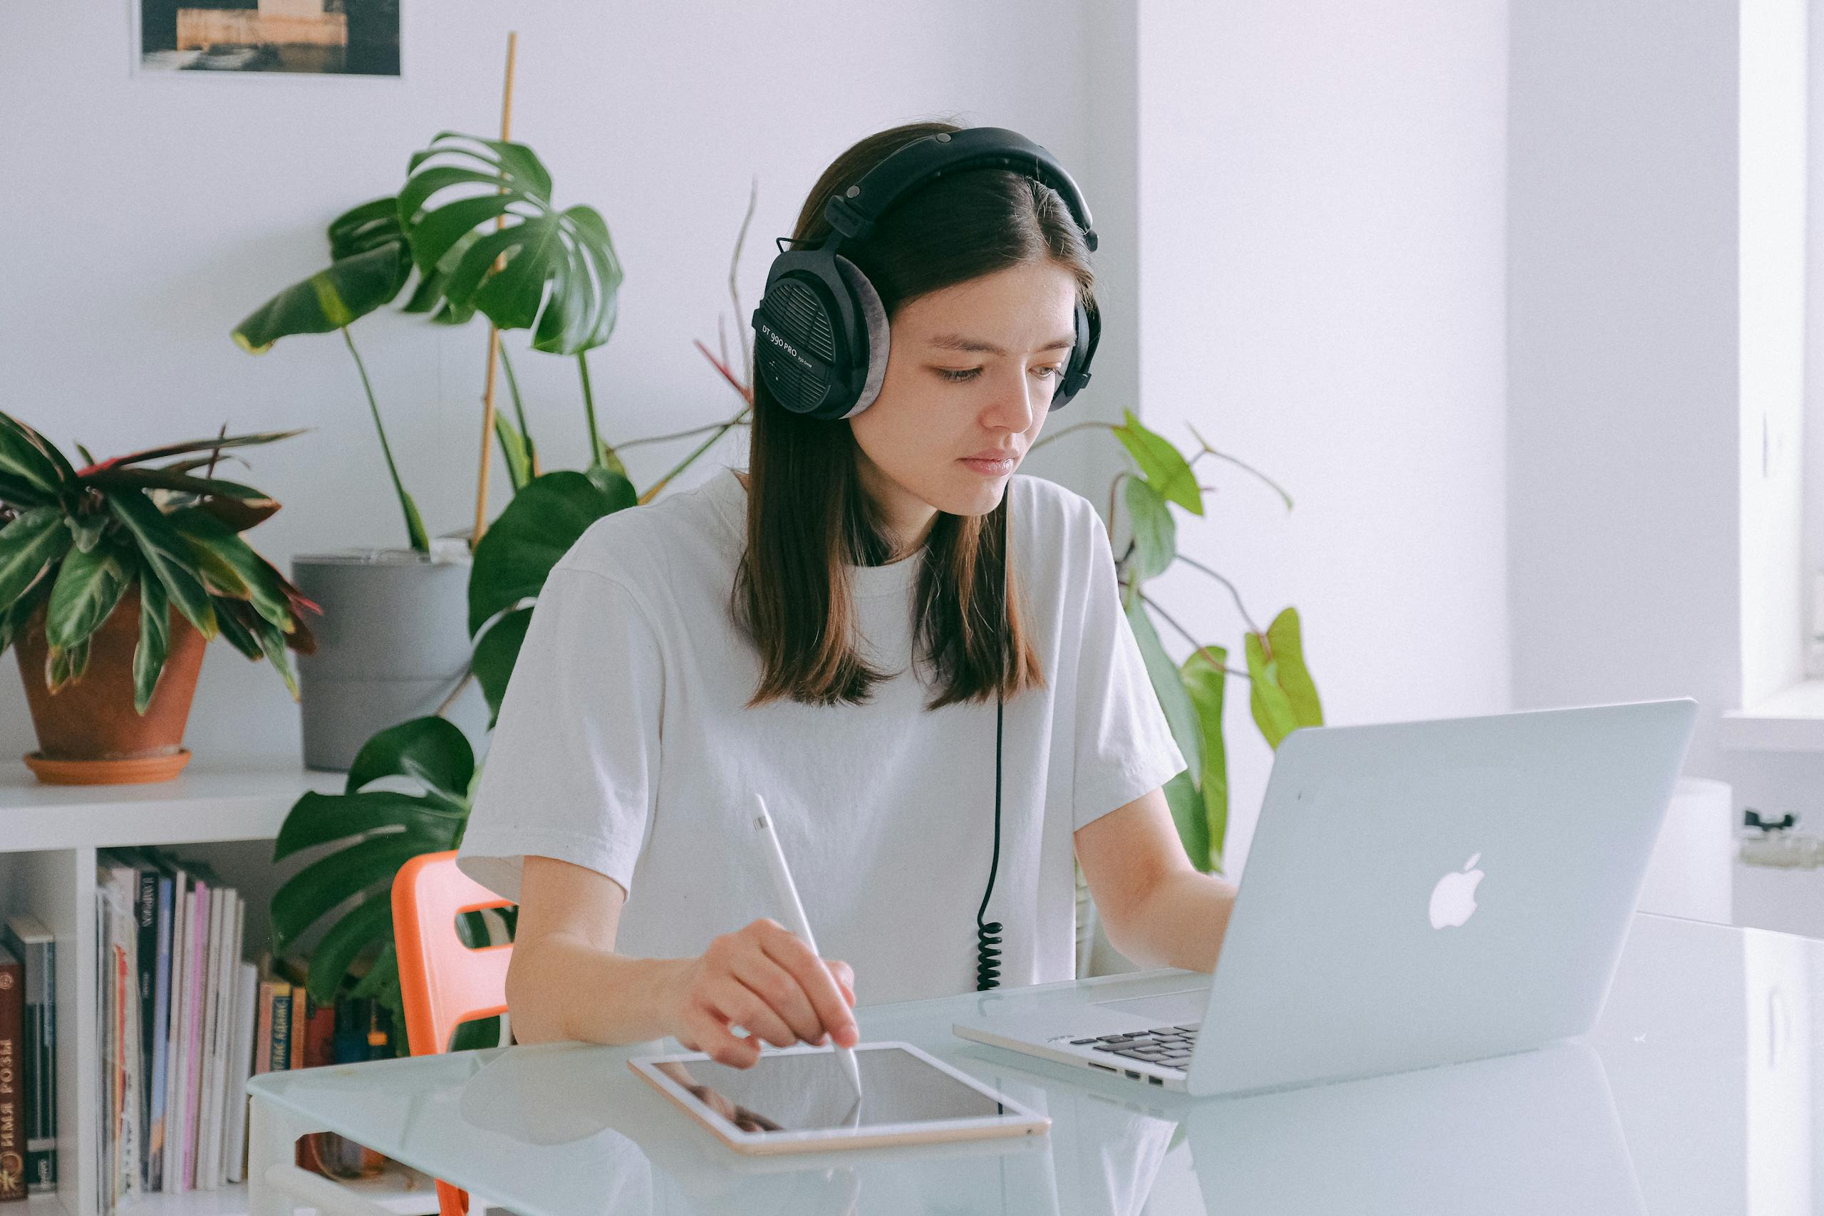
{"type": "MultiPolygon", "coordinates": [[[[733,412],[691,339],[713,348],[722,314],[733,346],[746,325],[731,315],[726,277],[750,180],[761,195],[741,268],[746,310],[772,237],[790,232],[817,173],[885,126],[1010,126],[1083,166],[1100,263],[1114,284],[1131,283],[1133,208],[1098,197],[1124,173],[1131,182],[1131,170],[1111,157],[1111,184],[1093,148],[1131,142],[1118,109],[1131,97],[1131,35],[1124,53],[1105,29],[1120,33],[1118,11],[1094,5],[1091,18],[1089,7],[434,0],[403,5],[403,78],[370,80],[135,77],[128,5],[11,4],[0,38],[0,215],[16,237],[0,290],[4,408],[97,456],[213,434],[223,421],[310,427],[237,470],[285,503],[250,540],[281,567],[294,552],[403,543],[337,337],[285,339],[255,359],[228,330],[317,270],[325,222],[394,191],[436,131],[498,129],[509,27],[520,31],[514,137],[551,166],[560,202],[600,208],[626,264],[618,328],[591,361],[611,441],[733,412]],[[1093,97],[1116,104],[1093,111],[1093,97]]],[[[1111,315],[1074,417],[1118,416],[1133,401],[1135,332],[1131,308],[1111,315]]],[[[467,529],[485,330],[372,317],[356,339],[427,525],[467,529]]],[[[518,368],[547,467],[578,467],[573,365],[523,356],[518,368]]],[[[629,465],[644,483],[680,456],[679,445],[646,447],[629,465]]],[[[711,452],[700,469],[741,459],[739,448],[711,452]]],[[[1107,459],[1065,441],[1029,470],[1082,485],[1107,459]]],[[[292,762],[297,711],[264,664],[213,647],[186,742],[210,762],[292,762]]],[[[35,746],[18,680],[4,676],[0,755],[35,746]]]]}

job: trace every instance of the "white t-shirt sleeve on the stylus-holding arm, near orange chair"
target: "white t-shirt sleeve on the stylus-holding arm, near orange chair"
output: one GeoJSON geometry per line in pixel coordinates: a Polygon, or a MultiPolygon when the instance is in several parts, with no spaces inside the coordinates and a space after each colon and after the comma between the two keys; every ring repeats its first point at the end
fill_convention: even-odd
{"type": "Polygon", "coordinates": [[[458,868],[520,897],[527,855],[633,891],[658,782],[664,665],[633,593],[558,565],[533,607],[500,704],[458,868]]]}

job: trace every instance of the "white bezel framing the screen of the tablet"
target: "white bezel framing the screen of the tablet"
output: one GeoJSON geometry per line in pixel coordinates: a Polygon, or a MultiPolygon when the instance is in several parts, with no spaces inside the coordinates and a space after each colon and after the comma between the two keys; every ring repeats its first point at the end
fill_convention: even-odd
{"type": "MultiPolygon", "coordinates": [[[[786,1048],[764,1048],[762,1056],[814,1056],[832,1052],[828,1046],[797,1045],[786,1048]]],[[[1005,1107],[1005,1114],[970,1119],[939,1119],[930,1123],[877,1123],[872,1127],[832,1127],[804,1132],[744,1132],[720,1114],[706,1107],[675,1079],[658,1072],[655,1065],[708,1063],[706,1052],[677,1052],[669,1056],[633,1056],[627,1068],[648,1085],[675,1101],[686,1114],[710,1128],[722,1143],[735,1152],[821,1152],[826,1149],[870,1149],[876,1145],[925,1145],[952,1139],[992,1139],[1000,1136],[1042,1136],[1051,1130],[1051,1118],[1032,1110],[1007,1094],[989,1088],[976,1077],[952,1068],[936,1056],[899,1039],[881,1039],[877,1043],[857,1043],[855,1052],[901,1050],[930,1065],[938,1072],[954,1077],[1005,1107]]]]}

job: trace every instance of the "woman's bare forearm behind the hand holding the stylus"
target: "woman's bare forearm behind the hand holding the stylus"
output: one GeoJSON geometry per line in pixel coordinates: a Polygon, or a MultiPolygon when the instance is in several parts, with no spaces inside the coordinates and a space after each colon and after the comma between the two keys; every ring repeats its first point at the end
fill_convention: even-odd
{"type": "Polygon", "coordinates": [[[549,933],[514,946],[507,1008],[520,1043],[644,1043],[673,1032],[666,1001],[689,959],[638,959],[549,933]]]}

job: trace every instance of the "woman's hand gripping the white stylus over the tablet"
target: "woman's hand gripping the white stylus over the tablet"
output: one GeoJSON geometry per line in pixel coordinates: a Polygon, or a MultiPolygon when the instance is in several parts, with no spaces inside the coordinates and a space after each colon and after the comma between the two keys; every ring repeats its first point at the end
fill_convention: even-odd
{"type": "Polygon", "coordinates": [[[761,1039],[792,1046],[834,1037],[854,1046],[861,1037],[850,1014],[854,1005],[855,974],[848,963],[819,961],[801,937],[762,919],[722,933],[700,957],[686,959],[660,1008],[666,1034],[686,1050],[751,1068],[761,1059],[761,1039]],[[742,1026],[748,1037],[737,1037],[730,1026],[742,1026]]]}

